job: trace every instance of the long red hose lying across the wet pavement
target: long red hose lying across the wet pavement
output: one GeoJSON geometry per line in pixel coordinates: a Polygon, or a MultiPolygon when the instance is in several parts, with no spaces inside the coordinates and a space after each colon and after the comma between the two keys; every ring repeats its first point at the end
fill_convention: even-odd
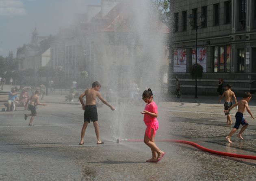
{"type": "MultiPolygon", "coordinates": [[[[127,139],[126,141],[128,142],[141,142],[143,140],[140,139],[127,139]]],[[[157,140],[160,142],[170,142],[170,143],[184,143],[187,145],[191,145],[193,147],[196,147],[202,151],[206,151],[209,153],[213,153],[213,154],[217,154],[217,155],[223,155],[223,156],[229,156],[229,157],[236,157],[236,158],[246,158],[246,159],[252,159],[252,160],[256,160],[256,156],[251,156],[251,155],[239,155],[239,154],[235,154],[235,153],[227,153],[227,152],[222,152],[222,151],[215,151],[213,149],[208,149],[205,147],[202,147],[201,145],[198,145],[194,142],[191,141],[183,141],[183,140],[171,140],[171,139],[166,139],[166,140],[157,140]]]]}

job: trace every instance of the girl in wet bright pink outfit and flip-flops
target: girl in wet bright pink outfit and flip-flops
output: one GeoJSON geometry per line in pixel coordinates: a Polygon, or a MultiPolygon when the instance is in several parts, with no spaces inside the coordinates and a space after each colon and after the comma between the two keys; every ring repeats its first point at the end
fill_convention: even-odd
{"type": "Polygon", "coordinates": [[[152,158],[150,158],[146,162],[159,162],[165,155],[165,152],[161,151],[156,146],[156,143],[154,141],[156,130],[158,129],[159,125],[156,119],[158,115],[157,105],[153,101],[153,93],[151,89],[145,90],[143,92],[142,99],[146,103],[144,111],[141,112],[141,114],[144,115],[143,121],[147,126],[145,130],[144,143],[148,145],[152,151],[152,158]],[[156,156],[156,153],[157,153],[157,156],[156,156]]]}

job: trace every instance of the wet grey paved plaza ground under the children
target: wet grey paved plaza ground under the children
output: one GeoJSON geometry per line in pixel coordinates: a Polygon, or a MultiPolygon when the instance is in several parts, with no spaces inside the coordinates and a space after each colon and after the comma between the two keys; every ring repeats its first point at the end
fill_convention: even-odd
{"type": "MultiPolygon", "coordinates": [[[[83,111],[78,100],[65,102],[59,90],[49,92],[38,106],[38,115],[28,127],[24,111],[0,112],[0,180],[1,181],[254,181],[256,160],[214,155],[164,139],[193,141],[209,149],[256,156],[256,119],[248,113],[249,127],[244,140],[235,135],[228,143],[223,101],[217,96],[181,96],[158,102],[160,128],[156,144],[166,152],[158,163],[148,163],[151,150],[143,142],[143,104],[115,104],[116,111],[98,107],[100,137],[96,145],[93,124],[85,133],[85,144],[78,145],[83,111]],[[116,143],[116,139],[123,141],[116,143]],[[157,141],[158,140],[158,141],[157,141]]],[[[240,100],[241,98],[238,98],[240,100]]],[[[143,103],[143,102],[142,102],[143,103]]],[[[3,107],[2,102],[0,104],[3,107]]],[[[249,102],[256,116],[256,98],[249,102]]],[[[236,109],[231,111],[232,121],[236,109]]],[[[29,119],[29,118],[28,118],[29,119]]],[[[234,126],[234,123],[233,123],[234,126]]]]}

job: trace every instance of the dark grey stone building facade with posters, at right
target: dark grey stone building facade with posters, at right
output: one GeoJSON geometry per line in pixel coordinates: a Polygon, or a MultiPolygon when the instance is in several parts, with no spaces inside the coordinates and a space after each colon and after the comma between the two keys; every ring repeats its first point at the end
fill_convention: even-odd
{"type": "Polygon", "coordinates": [[[197,58],[204,68],[202,79],[197,81],[198,94],[217,95],[219,78],[224,81],[223,87],[231,83],[238,96],[245,91],[254,93],[255,10],[255,0],[171,0],[169,91],[178,77],[183,94],[195,92],[195,81],[189,70],[197,58]],[[192,23],[189,15],[194,17],[192,23]],[[203,23],[201,15],[205,17],[203,23]]]}

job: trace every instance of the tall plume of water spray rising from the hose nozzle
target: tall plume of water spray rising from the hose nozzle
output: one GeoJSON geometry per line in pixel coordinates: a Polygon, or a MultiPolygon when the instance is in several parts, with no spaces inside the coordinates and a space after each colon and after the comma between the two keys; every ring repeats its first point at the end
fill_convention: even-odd
{"type": "Polygon", "coordinates": [[[99,81],[117,97],[111,100],[117,106],[111,132],[120,141],[119,138],[127,138],[127,131],[131,129],[129,121],[133,113],[124,116],[127,106],[135,114],[142,111],[145,104],[141,96],[148,88],[152,89],[154,100],[161,99],[163,80],[160,70],[168,66],[166,40],[169,30],[161,23],[156,6],[149,0],[121,1],[110,13],[116,18],[105,29],[109,32],[101,39],[104,46],[98,48],[102,55],[102,62],[98,64],[104,67],[100,70],[104,76],[99,81]]]}

